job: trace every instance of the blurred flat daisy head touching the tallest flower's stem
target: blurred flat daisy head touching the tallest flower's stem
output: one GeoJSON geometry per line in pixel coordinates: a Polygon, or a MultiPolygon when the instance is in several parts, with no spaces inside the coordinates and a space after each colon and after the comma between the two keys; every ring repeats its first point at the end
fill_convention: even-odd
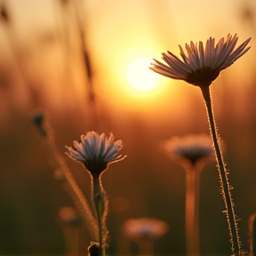
{"type": "Polygon", "coordinates": [[[205,164],[214,159],[212,139],[206,134],[189,134],[164,140],[161,149],[181,166],[205,164]]]}

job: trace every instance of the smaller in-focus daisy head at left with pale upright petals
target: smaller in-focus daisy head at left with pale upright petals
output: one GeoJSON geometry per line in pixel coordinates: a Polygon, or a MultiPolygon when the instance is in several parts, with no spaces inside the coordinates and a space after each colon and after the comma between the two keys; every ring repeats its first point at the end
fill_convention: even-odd
{"type": "Polygon", "coordinates": [[[99,176],[104,172],[108,164],[121,161],[125,156],[116,156],[123,148],[122,140],[116,140],[112,133],[87,132],[81,136],[81,142],[74,141],[75,149],[67,147],[66,154],[84,167],[92,176],[99,176]]]}

